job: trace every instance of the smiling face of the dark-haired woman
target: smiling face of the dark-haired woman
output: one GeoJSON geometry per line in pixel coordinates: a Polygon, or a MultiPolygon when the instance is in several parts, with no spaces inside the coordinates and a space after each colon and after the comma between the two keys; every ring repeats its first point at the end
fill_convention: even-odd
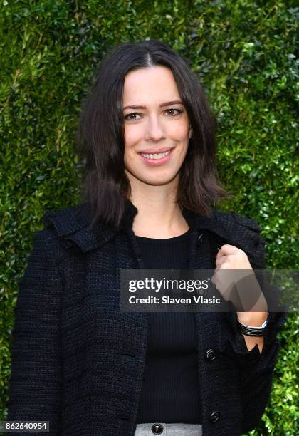
{"type": "Polygon", "coordinates": [[[142,68],[125,77],[124,159],[131,186],[177,184],[192,136],[187,111],[180,101],[169,68],[142,68]]]}

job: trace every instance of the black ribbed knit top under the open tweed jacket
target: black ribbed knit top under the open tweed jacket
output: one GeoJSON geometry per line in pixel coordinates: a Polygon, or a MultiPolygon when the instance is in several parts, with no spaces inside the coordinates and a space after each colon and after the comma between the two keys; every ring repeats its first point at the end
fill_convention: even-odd
{"type": "MultiPolygon", "coordinates": [[[[145,269],[188,269],[189,230],[178,237],[136,237],[145,269]]],[[[201,423],[194,313],[149,313],[140,422],[201,423]]]]}

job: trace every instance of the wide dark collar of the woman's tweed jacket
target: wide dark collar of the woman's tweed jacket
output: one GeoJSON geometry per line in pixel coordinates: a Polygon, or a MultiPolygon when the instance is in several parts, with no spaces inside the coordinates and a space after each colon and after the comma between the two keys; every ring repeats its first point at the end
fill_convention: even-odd
{"type": "MultiPolygon", "coordinates": [[[[129,199],[125,204],[125,215],[121,229],[132,229],[134,217],[138,210],[129,199]]],[[[238,246],[254,254],[254,249],[261,231],[258,224],[234,212],[220,212],[214,210],[211,217],[196,214],[188,209],[183,209],[182,214],[194,234],[201,229],[214,232],[224,240],[224,243],[238,246]],[[237,236],[236,236],[237,235],[237,236]]],[[[98,224],[90,227],[91,214],[88,202],[78,204],[66,209],[46,212],[43,217],[46,226],[53,226],[58,237],[65,240],[66,246],[77,245],[81,251],[86,252],[103,246],[115,237],[120,229],[112,224],[98,224]]]]}

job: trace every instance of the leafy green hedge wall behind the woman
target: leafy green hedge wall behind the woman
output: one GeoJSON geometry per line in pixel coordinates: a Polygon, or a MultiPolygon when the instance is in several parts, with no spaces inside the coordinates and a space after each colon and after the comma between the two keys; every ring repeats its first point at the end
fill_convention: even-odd
{"type": "MultiPolygon", "coordinates": [[[[46,210],[79,201],[80,102],[116,43],[157,38],[189,59],[219,121],[219,172],[256,219],[268,267],[298,268],[295,244],[295,1],[2,0],[0,4],[0,420],[18,281],[46,210]]],[[[251,435],[297,431],[298,316],[280,332],[271,401],[251,435]],[[297,416],[296,416],[297,413],[297,416]]]]}

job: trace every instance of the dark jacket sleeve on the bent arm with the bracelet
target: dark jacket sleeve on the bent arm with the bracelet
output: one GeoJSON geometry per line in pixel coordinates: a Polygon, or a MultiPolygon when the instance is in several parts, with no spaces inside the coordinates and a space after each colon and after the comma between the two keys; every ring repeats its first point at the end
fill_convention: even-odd
{"type": "MultiPolygon", "coordinates": [[[[266,269],[264,248],[264,240],[259,237],[256,243],[257,257],[249,259],[253,269],[266,269]]],[[[260,285],[267,296],[277,298],[278,289],[270,285],[265,286],[263,281],[260,281],[260,285]]],[[[223,313],[221,346],[222,351],[236,361],[240,370],[243,433],[258,426],[270,398],[273,370],[280,348],[277,335],[286,318],[286,312],[268,313],[268,325],[263,336],[263,350],[260,353],[257,344],[248,351],[243,335],[238,331],[236,312],[223,313]]]]}

